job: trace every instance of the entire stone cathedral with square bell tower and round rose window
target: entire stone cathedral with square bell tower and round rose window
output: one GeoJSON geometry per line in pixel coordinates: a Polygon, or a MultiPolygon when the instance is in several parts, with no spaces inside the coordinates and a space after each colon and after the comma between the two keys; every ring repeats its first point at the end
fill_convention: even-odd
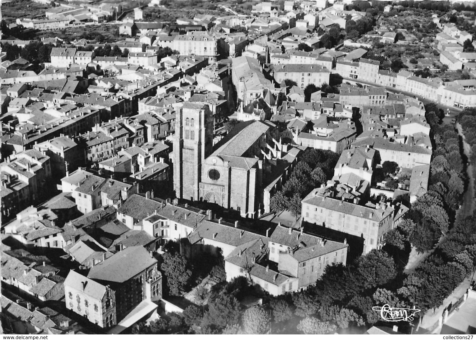
{"type": "Polygon", "coordinates": [[[272,171],[277,164],[272,158],[279,144],[276,126],[263,121],[241,122],[213,145],[212,122],[206,104],[184,103],[177,113],[173,142],[175,194],[256,218],[266,210],[263,189],[282,175],[272,171]]]}

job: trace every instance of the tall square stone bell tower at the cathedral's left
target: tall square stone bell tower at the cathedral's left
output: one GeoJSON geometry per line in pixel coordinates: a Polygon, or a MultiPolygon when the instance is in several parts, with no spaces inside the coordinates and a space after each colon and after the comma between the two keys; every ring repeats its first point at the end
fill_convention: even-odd
{"type": "Polygon", "coordinates": [[[207,104],[184,103],[175,118],[174,189],[178,198],[197,201],[202,162],[213,149],[213,114],[207,104]]]}

